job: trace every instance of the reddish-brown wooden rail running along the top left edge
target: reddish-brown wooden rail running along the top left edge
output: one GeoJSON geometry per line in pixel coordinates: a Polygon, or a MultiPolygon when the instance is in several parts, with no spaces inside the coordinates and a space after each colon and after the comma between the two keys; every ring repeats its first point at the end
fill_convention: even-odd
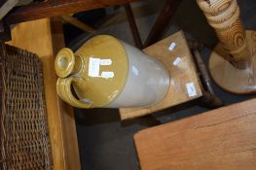
{"type": "Polygon", "coordinates": [[[9,24],[44,17],[63,16],[108,6],[122,5],[138,0],[48,0],[20,7],[7,17],[9,24]]]}

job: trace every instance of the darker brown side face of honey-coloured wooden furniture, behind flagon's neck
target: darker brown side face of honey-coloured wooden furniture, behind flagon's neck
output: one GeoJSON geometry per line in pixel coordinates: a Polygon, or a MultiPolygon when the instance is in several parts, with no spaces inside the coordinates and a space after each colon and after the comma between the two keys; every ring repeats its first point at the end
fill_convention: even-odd
{"type": "MultiPolygon", "coordinates": [[[[52,31],[52,42],[54,47],[54,56],[56,53],[65,47],[63,31],[62,31],[62,20],[61,17],[51,18],[51,31],[52,31]]],[[[56,78],[55,78],[56,82],[56,78]]],[[[55,84],[54,82],[54,84],[55,84]]],[[[64,143],[64,159],[65,168],[67,170],[80,170],[80,156],[77,142],[77,132],[74,118],[74,110],[69,104],[65,103],[59,97],[59,113],[62,116],[62,132],[63,132],[63,143],[64,143]]]]}

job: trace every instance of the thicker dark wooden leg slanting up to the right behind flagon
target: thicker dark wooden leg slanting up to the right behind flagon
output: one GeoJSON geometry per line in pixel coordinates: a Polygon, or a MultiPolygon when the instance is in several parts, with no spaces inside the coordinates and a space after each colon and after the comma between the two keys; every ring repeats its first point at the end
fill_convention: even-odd
{"type": "Polygon", "coordinates": [[[168,23],[168,20],[170,20],[170,18],[174,15],[181,2],[182,0],[166,0],[163,10],[161,11],[157,21],[146,39],[144,48],[149,47],[159,40],[161,33],[168,23]]]}

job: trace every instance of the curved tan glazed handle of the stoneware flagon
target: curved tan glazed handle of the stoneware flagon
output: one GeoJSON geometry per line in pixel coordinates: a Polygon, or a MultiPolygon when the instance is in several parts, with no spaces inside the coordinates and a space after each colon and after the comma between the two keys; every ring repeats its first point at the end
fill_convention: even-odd
{"type": "Polygon", "coordinates": [[[72,105],[73,107],[76,108],[84,108],[84,109],[90,109],[92,108],[91,103],[85,103],[79,99],[77,99],[71,90],[71,85],[72,82],[75,81],[74,77],[69,77],[69,78],[58,78],[56,82],[56,91],[58,96],[67,102],[68,104],[72,105]]]}

